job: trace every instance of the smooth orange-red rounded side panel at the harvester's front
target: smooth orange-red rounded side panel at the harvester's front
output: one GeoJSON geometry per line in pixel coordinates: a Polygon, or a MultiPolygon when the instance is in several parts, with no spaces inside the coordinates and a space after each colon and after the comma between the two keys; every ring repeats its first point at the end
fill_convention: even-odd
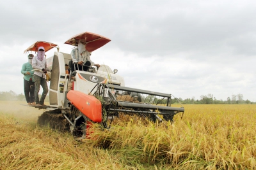
{"type": "Polygon", "coordinates": [[[67,94],[67,99],[93,122],[102,121],[102,106],[96,97],[76,90],[70,90],[67,94]]]}

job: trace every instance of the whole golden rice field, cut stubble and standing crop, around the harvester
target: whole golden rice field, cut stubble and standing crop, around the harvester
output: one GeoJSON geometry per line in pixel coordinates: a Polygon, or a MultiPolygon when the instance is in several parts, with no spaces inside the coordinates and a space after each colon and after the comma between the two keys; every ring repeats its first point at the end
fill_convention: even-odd
{"type": "Polygon", "coordinates": [[[95,124],[83,142],[38,127],[43,110],[0,108],[0,169],[256,169],[255,104],[188,104],[174,124],[95,124]]]}

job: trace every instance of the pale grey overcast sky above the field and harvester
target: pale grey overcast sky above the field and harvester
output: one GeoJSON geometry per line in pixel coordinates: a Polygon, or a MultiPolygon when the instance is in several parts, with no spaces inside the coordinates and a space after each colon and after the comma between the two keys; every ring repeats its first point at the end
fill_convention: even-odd
{"type": "Polygon", "coordinates": [[[70,53],[64,42],[88,31],[111,39],[91,59],[118,69],[126,87],[256,101],[255,9],[253,0],[0,1],[0,92],[24,94],[28,46],[70,53]]]}

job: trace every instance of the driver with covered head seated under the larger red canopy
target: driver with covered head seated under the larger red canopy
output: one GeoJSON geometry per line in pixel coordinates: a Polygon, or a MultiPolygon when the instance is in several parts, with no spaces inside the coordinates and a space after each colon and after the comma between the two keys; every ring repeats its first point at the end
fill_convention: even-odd
{"type": "Polygon", "coordinates": [[[95,64],[91,59],[91,52],[88,52],[85,48],[85,44],[80,40],[77,48],[74,48],[70,55],[73,62],[73,66],[71,67],[72,72],[75,70],[87,71],[89,67],[97,66],[100,67],[100,64],[95,64]],[[77,68],[78,66],[78,68],[77,68]]]}

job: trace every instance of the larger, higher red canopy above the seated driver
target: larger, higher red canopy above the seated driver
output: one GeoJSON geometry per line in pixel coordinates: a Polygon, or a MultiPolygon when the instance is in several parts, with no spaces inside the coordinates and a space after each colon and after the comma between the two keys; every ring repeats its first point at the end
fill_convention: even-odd
{"type": "Polygon", "coordinates": [[[86,44],[85,48],[88,50],[88,52],[93,52],[111,41],[111,39],[100,36],[99,34],[82,32],[80,34],[76,34],[76,36],[72,36],[72,38],[68,39],[65,44],[77,46],[79,40],[86,44]]]}

